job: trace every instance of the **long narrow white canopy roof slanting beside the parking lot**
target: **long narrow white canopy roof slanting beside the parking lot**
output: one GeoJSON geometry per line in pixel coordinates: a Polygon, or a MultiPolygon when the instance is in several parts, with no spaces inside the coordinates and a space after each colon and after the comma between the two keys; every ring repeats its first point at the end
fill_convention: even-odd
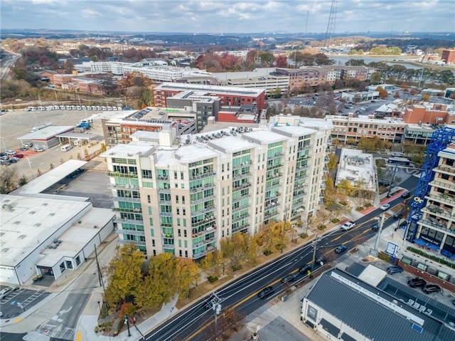
{"type": "Polygon", "coordinates": [[[24,184],[22,187],[14,190],[12,194],[23,195],[41,193],[67,175],[73,173],[75,170],[85,166],[86,163],[87,161],[70,159],[63,164],[60,164],[60,166],[50,169],[49,172],[45,172],[31,182],[28,182],[28,184],[24,184]]]}

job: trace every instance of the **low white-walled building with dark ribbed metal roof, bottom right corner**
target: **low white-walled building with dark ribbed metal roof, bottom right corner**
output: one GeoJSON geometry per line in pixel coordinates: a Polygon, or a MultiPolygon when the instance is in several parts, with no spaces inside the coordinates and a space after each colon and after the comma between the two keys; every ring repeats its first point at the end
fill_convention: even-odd
{"type": "Polygon", "coordinates": [[[454,328],[425,305],[411,305],[338,268],[323,273],[304,298],[301,319],[338,340],[455,340],[454,328]]]}

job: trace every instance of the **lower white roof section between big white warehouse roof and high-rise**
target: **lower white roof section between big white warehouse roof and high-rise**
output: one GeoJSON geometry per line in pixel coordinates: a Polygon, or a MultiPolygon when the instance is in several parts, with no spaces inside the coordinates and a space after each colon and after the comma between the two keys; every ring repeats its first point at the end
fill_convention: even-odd
{"type": "Polygon", "coordinates": [[[74,258],[96,236],[100,228],[105,226],[114,216],[114,212],[110,209],[90,209],[79,220],[80,223],[73,224],[70,229],[58,237],[58,240],[62,241],[62,243],[56,248],[44,246],[46,248],[41,251],[43,258],[36,265],[55,266],[64,257],[74,258]]]}

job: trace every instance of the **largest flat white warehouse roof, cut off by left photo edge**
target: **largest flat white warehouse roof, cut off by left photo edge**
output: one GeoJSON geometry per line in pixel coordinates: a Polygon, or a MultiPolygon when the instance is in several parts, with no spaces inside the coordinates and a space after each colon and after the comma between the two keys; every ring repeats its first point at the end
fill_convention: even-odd
{"type": "Polygon", "coordinates": [[[0,263],[15,267],[77,214],[88,201],[0,194],[0,263]]]}

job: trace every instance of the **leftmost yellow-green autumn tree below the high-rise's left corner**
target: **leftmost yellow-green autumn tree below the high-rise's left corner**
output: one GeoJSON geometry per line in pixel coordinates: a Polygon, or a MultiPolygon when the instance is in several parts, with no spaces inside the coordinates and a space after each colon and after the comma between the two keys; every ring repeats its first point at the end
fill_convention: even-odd
{"type": "Polygon", "coordinates": [[[107,268],[105,300],[109,305],[115,305],[136,293],[142,279],[142,263],[144,253],[138,251],[134,243],[117,247],[117,254],[107,268]]]}

